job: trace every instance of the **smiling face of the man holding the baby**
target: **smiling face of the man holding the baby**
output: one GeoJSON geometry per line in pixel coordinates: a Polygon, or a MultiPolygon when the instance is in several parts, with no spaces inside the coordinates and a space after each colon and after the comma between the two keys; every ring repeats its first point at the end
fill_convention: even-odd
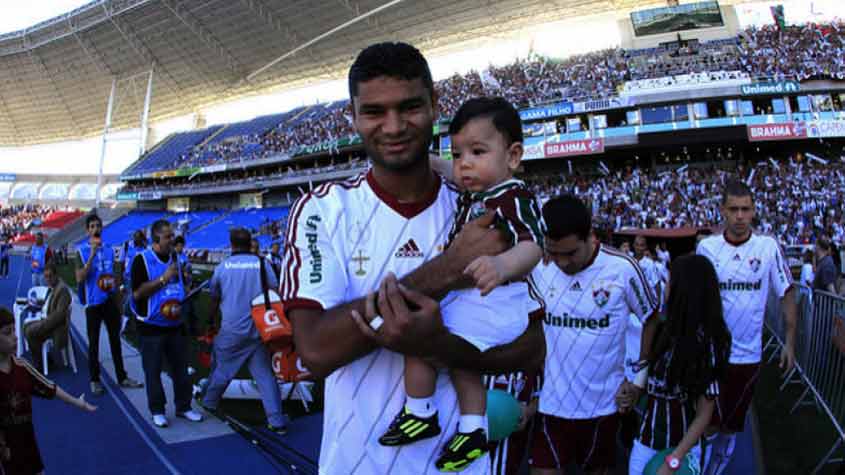
{"type": "Polygon", "coordinates": [[[352,100],[355,128],[375,165],[402,171],[428,160],[432,96],[420,78],[381,76],[358,83],[352,100]]]}

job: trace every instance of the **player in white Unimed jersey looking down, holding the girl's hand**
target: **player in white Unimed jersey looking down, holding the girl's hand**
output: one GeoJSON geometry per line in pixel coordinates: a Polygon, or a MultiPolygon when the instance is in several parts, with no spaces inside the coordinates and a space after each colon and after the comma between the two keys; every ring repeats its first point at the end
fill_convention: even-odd
{"type": "Polygon", "coordinates": [[[630,404],[642,389],[624,379],[628,318],[645,324],[642,347],[651,348],[657,301],[635,260],[598,243],[581,200],[553,198],[543,219],[547,263],[532,278],[546,303],[547,352],[532,474],[560,474],[572,462],[604,474],[615,464],[617,411],[628,409],[617,407],[617,392],[629,392],[630,404]]]}

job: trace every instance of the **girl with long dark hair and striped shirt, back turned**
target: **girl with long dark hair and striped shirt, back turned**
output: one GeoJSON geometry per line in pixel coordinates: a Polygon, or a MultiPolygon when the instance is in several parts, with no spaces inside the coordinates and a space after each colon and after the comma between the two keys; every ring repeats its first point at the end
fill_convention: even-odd
{"type": "Polygon", "coordinates": [[[666,321],[642,362],[649,366],[648,403],[629,475],[641,475],[665,449],[671,452],[659,475],[673,473],[685,457],[700,466],[697,445],[713,415],[730,348],[716,270],[706,257],[679,257],[672,263],[666,321]]]}

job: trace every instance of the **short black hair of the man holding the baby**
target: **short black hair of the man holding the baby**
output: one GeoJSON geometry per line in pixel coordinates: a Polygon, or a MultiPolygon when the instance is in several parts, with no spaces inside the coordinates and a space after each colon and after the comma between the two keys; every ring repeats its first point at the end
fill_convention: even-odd
{"type": "Polygon", "coordinates": [[[358,97],[358,84],[381,76],[406,81],[422,79],[426,89],[434,94],[428,61],[420,50],[407,43],[376,43],[364,48],[349,68],[349,98],[358,97]]]}

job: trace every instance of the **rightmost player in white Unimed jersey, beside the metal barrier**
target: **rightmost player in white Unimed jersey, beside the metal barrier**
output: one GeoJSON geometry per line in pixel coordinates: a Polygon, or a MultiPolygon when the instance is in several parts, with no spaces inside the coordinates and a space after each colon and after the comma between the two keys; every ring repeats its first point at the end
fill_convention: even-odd
{"type": "Polygon", "coordinates": [[[786,322],[786,343],[781,368],[789,371],[795,362],[797,308],[792,291],[792,274],[780,246],[770,236],[753,234],[754,199],[740,181],[729,181],[722,192],[723,234],[706,238],[697,253],[716,268],[725,323],[731,333],[731,356],[719,393],[713,426],[719,433],[710,437],[705,459],[708,474],[720,474],[727,467],[736,433],[745,427],[745,415],[754,395],[762,357],[763,319],[769,292],[782,300],[786,322]]]}

